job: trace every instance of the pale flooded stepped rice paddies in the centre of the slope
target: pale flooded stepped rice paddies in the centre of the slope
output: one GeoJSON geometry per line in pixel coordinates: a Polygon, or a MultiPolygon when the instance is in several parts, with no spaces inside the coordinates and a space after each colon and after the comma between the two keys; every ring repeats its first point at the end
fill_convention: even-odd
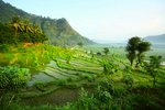
{"type": "Polygon", "coordinates": [[[81,80],[97,77],[103,68],[99,63],[92,63],[81,58],[73,58],[69,64],[65,59],[51,61],[38,74],[34,74],[29,86],[37,82],[56,82],[59,80],[81,80]]]}

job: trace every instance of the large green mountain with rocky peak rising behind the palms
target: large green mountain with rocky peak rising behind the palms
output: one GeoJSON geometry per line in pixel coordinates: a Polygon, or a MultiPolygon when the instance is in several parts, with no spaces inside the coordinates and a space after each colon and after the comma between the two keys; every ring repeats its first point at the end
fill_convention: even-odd
{"type": "Polygon", "coordinates": [[[95,42],[76,32],[64,18],[51,19],[30,14],[0,0],[0,22],[10,22],[14,15],[20,15],[22,19],[28,18],[31,23],[37,24],[50,37],[52,44],[76,45],[79,42],[84,44],[95,44],[95,42]]]}

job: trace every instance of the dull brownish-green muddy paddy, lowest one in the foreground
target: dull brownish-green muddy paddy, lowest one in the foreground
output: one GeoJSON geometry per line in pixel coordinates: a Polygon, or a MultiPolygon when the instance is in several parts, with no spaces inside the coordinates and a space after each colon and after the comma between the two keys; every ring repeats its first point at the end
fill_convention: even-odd
{"type": "Polygon", "coordinates": [[[76,101],[79,96],[80,88],[69,89],[59,88],[56,91],[33,98],[24,98],[22,102],[29,106],[41,106],[41,105],[63,105],[66,102],[76,101]]]}

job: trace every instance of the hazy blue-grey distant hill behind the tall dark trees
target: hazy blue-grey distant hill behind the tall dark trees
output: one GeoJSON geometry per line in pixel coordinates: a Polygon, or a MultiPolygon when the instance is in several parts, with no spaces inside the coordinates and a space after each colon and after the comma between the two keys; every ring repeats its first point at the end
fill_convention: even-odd
{"type": "Polygon", "coordinates": [[[165,43],[165,34],[146,36],[146,37],[144,37],[144,40],[146,40],[153,44],[164,44],[165,43]]]}

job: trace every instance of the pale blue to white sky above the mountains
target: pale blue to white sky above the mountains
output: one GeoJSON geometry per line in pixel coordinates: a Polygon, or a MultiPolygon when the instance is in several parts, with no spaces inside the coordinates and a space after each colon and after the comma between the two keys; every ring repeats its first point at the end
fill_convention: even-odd
{"type": "Polygon", "coordinates": [[[165,33],[165,0],[3,0],[29,13],[65,18],[98,43],[165,33]]]}

